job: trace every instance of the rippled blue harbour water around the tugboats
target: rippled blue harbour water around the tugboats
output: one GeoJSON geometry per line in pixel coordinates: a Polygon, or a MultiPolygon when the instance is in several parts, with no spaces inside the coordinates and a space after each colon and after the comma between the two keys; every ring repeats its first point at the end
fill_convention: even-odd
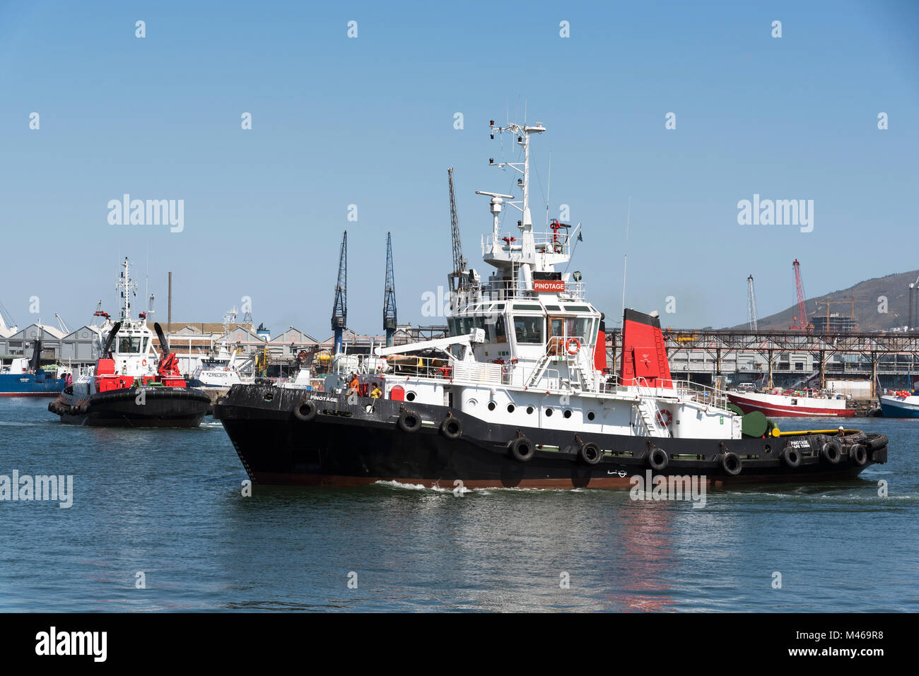
{"type": "Polygon", "coordinates": [[[0,501],[0,611],[919,611],[919,421],[846,421],[890,437],[860,479],[694,509],[626,490],[244,497],[210,418],[86,428],[46,406],[0,400],[0,475],[73,475],[73,505],[0,501]]]}

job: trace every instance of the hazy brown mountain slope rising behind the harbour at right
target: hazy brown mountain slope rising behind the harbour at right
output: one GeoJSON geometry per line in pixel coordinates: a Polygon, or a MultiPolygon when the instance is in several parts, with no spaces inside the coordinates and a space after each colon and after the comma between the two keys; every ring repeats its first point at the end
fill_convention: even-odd
{"type": "MultiPolygon", "coordinates": [[[[813,317],[818,313],[826,314],[826,305],[823,301],[827,299],[832,303],[830,305],[831,314],[839,313],[848,317],[852,312],[851,297],[854,296],[858,331],[879,331],[895,326],[905,326],[909,314],[909,285],[916,281],[917,276],[919,276],[919,270],[875,277],[858,282],[852,287],[807,299],[804,306],[807,309],[808,320],[812,322],[813,317]],[[881,306],[879,297],[881,296],[887,298],[886,313],[879,311],[881,306]]],[[[798,306],[793,305],[788,310],[759,318],[756,324],[759,329],[766,331],[786,331],[791,326],[793,318],[797,316],[798,306]]],[[[744,322],[732,328],[743,330],[747,326],[748,324],[744,322]]]]}

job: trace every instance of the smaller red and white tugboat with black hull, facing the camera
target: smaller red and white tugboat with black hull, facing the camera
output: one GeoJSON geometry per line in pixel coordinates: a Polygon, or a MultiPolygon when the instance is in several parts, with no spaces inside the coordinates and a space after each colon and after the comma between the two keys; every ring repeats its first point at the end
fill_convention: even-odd
{"type": "Polygon", "coordinates": [[[137,284],[130,279],[128,259],[123,266],[121,318],[112,322],[104,315],[95,369],[64,388],[48,410],[70,424],[197,427],[210,407],[210,397],[187,387],[159,324],[153,328],[163,350],[161,358],[153,350],[146,313],[131,319],[130,294],[137,284]]]}

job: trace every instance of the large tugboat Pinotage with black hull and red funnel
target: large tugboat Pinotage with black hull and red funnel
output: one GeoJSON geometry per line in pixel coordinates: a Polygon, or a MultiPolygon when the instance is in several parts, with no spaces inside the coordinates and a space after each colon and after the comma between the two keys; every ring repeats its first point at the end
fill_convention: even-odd
{"type": "Polygon", "coordinates": [[[886,462],[882,434],[783,433],[762,413],[731,411],[723,390],[674,380],[656,313],[624,311],[611,375],[604,315],[580,273],[559,271],[577,230],[533,229],[529,143],[543,131],[493,122],[493,138],[511,134],[523,150],[522,163],[492,162],[519,173],[522,197],[478,192],[490,197],[482,257],[494,272],[451,275],[448,337],[377,348],[387,366],[364,369],[350,391],[235,385],[215,404],[250,479],[616,488],[646,472],[714,485],[852,479],[886,462]],[[506,205],[520,220],[503,233],[506,205]],[[381,398],[365,396],[374,386],[381,398]]]}

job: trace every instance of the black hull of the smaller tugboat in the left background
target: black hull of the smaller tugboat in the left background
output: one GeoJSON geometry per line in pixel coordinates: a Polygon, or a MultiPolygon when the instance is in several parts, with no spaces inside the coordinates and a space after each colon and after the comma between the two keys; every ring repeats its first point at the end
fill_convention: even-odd
{"type": "Polygon", "coordinates": [[[84,401],[52,401],[48,410],[65,424],[90,427],[198,427],[210,408],[210,397],[187,388],[116,389],[84,401]]]}

